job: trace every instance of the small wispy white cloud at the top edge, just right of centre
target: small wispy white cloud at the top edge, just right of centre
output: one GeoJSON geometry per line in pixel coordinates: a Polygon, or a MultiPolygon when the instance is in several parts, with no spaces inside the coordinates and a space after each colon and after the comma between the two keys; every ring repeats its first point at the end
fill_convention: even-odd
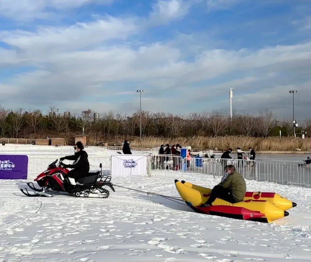
{"type": "Polygon", "coordinates": [[[152,9],[149,23],[165,25],[172,20],[184,17],[189,11],[189,3],[182,0],[158,0],[152,9]]]}

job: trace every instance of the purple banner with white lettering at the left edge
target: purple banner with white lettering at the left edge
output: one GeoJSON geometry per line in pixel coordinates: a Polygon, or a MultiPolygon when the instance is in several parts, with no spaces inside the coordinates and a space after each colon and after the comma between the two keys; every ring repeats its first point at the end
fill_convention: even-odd
{"type": "Polygon", "coordinates": [[[0,155],[0,179],[27,179],[28,156],[0,155]]]}

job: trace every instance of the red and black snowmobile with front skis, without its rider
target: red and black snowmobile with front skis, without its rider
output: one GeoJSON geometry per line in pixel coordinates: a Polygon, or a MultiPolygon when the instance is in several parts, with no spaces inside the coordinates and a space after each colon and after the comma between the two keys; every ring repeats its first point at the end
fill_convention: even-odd
{"type": "Polygon", "coordinates": [[[108,198],[109,191],[104,186],[110,187],[114,192],[113,184],[110,182],[111,176],[102,174],[102,165],[100,164],[100,171],[95,173],[88,173],[87,176],[77,178],[76,185],[70,184],[67,173],[69,170],[63,167],[62,162],[56,163],[58,159],[49,164],[48,169],[37,176],[35,181],[41,188],[36,188],[32,182],[27,185],[38,193],[29,193],[27,188],[21,188],[28,197],[53,197],[53,194],[46,194],[47,192],[67,192],[76,197],[88,197],[90,194],[97,194],[97,197],[108,198]]]}

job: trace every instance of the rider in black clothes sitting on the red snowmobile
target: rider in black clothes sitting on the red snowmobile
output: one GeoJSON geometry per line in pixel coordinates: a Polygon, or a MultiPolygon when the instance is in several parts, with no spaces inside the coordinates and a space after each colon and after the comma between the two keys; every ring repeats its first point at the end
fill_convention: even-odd
{"type": "Polygon", "coordinates": [[[68,155],[65,157],[61,157],[59,160],[63,161],[64,159],[67,160],[74,160],[71,165],[62,164],[64,168],[73,168],[67,174],[67,177],[72,185],[76,185],[75,179],[87,176],[90,171],[90,164],[89,160],[87,159],[88,155],[86,151],[84,151],[84,146],[81,141],[78,141],[74,146],[75,154],[68,155]]]}

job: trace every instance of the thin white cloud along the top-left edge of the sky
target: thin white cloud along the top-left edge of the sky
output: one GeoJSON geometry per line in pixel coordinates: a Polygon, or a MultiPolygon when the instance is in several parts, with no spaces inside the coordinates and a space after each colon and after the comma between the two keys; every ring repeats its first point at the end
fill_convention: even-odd
{"type": "Polygon", "coordinates": [[[114,0],[1,0],[0,15],[15,20],[45,19],[53,12],[47,8],[69,9],[81,7],[88,3],[99,5],[110,4],[114,0]]]}

